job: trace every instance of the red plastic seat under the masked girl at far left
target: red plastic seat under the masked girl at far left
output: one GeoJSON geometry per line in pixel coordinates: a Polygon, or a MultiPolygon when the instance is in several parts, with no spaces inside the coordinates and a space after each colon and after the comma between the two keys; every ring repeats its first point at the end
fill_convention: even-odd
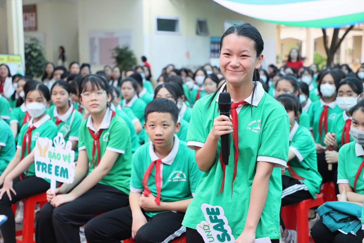
{"type": "MultiPolygon", "coordinates": [[[[22,240],[16,239],[17,243],[35,243],[33,240],[33,234],[35,232],[34,227],[34,208],[35,204],[39,202],[39,206],[42,207],[47,202],[47,194],[40,193],[23,200],[24,202],[24,219],[23,229],[15,232],[16,236],[22,235],[22,240]]],[[[16,205],[16,204],[13,204],[16,205]]]]}

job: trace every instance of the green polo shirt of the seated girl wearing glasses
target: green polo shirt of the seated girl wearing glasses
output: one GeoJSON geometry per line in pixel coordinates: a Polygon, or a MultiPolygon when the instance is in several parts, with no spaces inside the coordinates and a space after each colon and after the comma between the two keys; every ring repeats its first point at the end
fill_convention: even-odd
{"type": "MultiPolygon", "coordinates": [[[[114,165],[107,175],[105,175],[100,181],[100,184],[113,186],[127,194],[129,194],[129,181],[131,173],[131,141],[130,132],[125,121],[119,117],[114,116],[111,119],[111,111],[107,109],[103,121],[100,125],[100,129],[103,128],[100,136],[100,156],[103,157],[106,150],[110,150],[119,153],[114,165]]],[[[91,116],[81,123],[80,130],[78,132],[78,150],[86,149],[88,162],[90,167],[88,168],[88,174],[94,170],[92,165],[92,145],[94,139],[91,137],[88,131],[88,126],[92,125],[91,116]]],[[[97,150],[97,148],[96,148],[97,150]]],[[[97,151],[94,154],[94,163],[97,162],[97,151]]]]}

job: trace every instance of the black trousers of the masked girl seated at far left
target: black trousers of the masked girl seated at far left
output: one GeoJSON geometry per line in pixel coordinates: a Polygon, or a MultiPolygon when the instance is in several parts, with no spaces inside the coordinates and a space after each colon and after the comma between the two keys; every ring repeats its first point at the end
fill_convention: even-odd
{"type": "Polygon", "coordinates": [[[0,226],[4,243],[16,242],[15,217],[11,205],[24,198],[46,192],[51,187],[51,184],[42,178],[36,176],[25,177],[24,174],[21,174],[21,177],[23,180],[20,180],[19,177],[13,180],[13,189],[16,195],[10,191],[12,200],[9,200],[7,193],[4,193],[3,198],[0,200],[0,215],[6,215],[8,217],[8,220],[0,226]]]}

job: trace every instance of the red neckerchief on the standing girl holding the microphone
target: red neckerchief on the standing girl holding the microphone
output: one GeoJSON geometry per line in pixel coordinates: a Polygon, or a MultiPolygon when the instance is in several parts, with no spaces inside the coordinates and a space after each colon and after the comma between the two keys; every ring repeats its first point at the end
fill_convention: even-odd
{"type": "MultiPolygon", "coordinates": [[[[238,164],[238,156],[239,156],[239,141],[238,141],[238,112],[236,111],[236,108],[238,107],[238,105],[245,105],[245,104],[249,104],[248,102],[246,102],[245,100],[240,101],[238,103],[232,103],[231,104],[231,109],[230,109],[230,115],[232,118],[232,123],[233,123],[233,142],[234,142],[234,174],[233,174],[233,182],[231,184],[231,192],[233,193],[233,183],[236,177],[236,167],[238,164]]],[[[221,150],[220,150],[220,164],[221,164],[221,169],[222,169],[222,182],[221,182],[221,188],[219,190],[219,193],[222,192],[222,188],[225,182],[225,168],[226,165],[222,162],[222,156],[221,156],[221,150]]],[[[219,194],[217,193],[217,194],[219,194]]]]}

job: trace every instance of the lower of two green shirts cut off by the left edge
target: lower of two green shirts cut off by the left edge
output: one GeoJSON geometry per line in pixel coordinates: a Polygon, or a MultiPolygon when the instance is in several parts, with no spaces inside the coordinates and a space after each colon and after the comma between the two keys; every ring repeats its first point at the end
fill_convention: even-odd
{"type": "Polygon", "coordinates": [[[0,119],[0,175],[15,155],[15,140],[8,123],[0,119]]]}

